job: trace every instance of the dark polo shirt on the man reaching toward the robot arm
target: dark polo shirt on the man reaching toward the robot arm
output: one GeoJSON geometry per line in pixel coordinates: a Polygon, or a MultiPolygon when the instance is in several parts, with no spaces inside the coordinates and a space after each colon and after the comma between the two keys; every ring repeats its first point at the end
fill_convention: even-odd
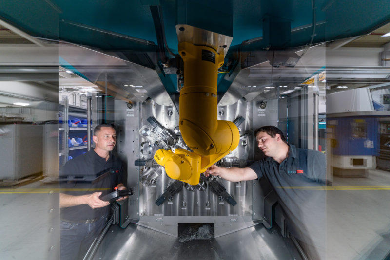
{"type": "Polygon", "coordinates": [[[325,154],[289,144],[288,157],[280,164],[266,157],[250,168],[273,186],[293,235],[309,244],[325,243],[325,154]]]}

